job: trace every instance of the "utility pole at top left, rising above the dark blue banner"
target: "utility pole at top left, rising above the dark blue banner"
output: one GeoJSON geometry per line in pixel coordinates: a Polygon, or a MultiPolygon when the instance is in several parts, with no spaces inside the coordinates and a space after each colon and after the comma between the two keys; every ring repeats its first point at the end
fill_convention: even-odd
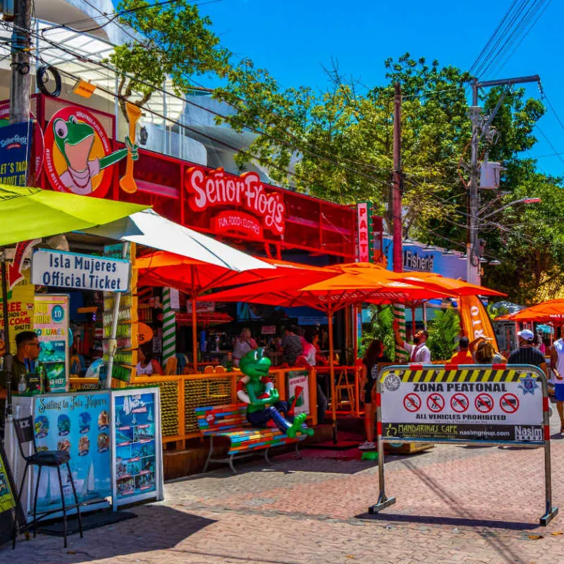
{"type": "Polygon", "coordinates": [[[11,46],[10,123],[22,123],[30,118],[31,9],[32,0],[15,0],[11,46]]]}

